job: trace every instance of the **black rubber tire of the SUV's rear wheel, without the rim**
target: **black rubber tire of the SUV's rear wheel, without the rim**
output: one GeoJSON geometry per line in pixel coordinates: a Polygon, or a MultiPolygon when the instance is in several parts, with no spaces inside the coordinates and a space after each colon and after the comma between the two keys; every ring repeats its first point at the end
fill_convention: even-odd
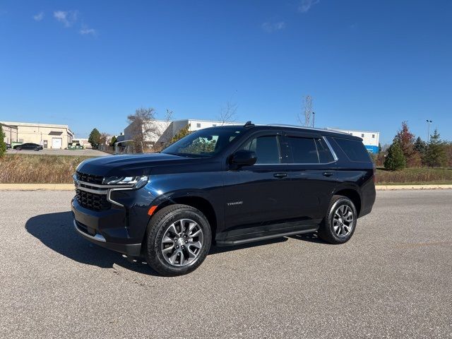
{"type": "MultiPolygon", "coordinates": [[[[342,218],[340,220],[342,220],[342,218]]],[[[348,242],[350,240],[353,233],[355,232],[356,223],[357,223],[357,210],[355,208],[355,204],[346,196],[333,196],[333,198],[331,198],[331,203],[328,208],[328,212],[326,213],[326,217],[323,219],[319,227],[319,237],[324,241],[329,242],[330,244],[344,244],[345,242],[348,242]],[[335,224],[334,221],[336,211],[338,211],[340,215],[341,208],[348,210],[347,207],[343,206],[348,206],[348,208],[350,208],[353,218],[352,222],[350,222],[349,224],[349,226],[351,227],[350,232],[344,235],[337,234],[334,229],[334,226],[338,225],[335,224]]],[[[341,232],[340,226],[339,232],[341,232]]]]}

